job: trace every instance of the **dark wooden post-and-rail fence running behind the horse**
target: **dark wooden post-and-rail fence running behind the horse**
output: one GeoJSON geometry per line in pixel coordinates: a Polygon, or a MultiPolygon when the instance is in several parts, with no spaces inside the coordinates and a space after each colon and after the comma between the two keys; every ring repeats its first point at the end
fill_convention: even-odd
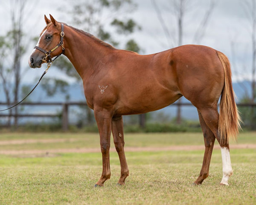
{"type": "MultiPolygon", "coordinates": [[[[6,102],[0,102],[0,106],[8,105],[6,102]]],[[[62,106],[62,129],[68,130],[68,110],[70,106],[87,106],[86,102],[23,102],[23,106],[62,106]]],[[[192,106],[191,103],[173,103],[169,106],[192,106]]],[[[256,107],[256,103],[238,103],[238,107],[256,107]]],[[[9,106],[12,106],[10,104],[9,106]]],[[[59,114],[0,114],[0,117],[59,117],[59,114]]],[[[143,127],[145,125],[145,115],[140,116],[140,125],[143,127]]]]}

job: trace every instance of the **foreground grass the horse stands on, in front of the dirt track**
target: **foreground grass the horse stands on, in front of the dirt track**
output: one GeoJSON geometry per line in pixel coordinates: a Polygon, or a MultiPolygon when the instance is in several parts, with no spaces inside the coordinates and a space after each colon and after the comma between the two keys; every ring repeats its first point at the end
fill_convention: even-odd
{"type": "Polygon", "coordinates": [[[54,157],[1,156],[0,204],[245,204],[256,203],[256,151],[233,150],[230,186],[219,185],[221,154],[214,150],[210,175],[202,185],[192,182],[201,168],[203,151],[126,153],[130,176],[119,187],[119,160],[111,153],[111,179],[93,188],[102,165],[100,153],[69,153],[54,157]]]}

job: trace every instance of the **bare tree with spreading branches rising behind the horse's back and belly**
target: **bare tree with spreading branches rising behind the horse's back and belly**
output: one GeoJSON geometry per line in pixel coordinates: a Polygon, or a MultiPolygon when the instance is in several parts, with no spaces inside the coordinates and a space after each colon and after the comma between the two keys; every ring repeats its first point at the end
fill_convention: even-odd
{"type": "MultiPolygon", "coordinates": [[[[154,6],[154,9],[157,13],[158,20],[160,21],[160,24],[163,28],[164,34],[167,39],[167,43],[169,46],[181,46],[183,44],[183,33],[184,33],[184,18],[186,14],[188,14],[188,11],[191,12],[192,8],[195,8],[195,5],[193,5],[194,1],[189,0],[169,0],[169,3],[171,5],[171,13],[175,17],[175,20],[177,22],[177,37],[175,35],[175,32],[171,32],[172,28],[169,28],[166,23],[166,18],[163,17],[161,13],[161,9],[159,8],[159,1],[156,3],[156,0],[151,0],[152,4],[154,6]],[[172,34],[172,35],[171,35],[172,34]],[[170,43],[172,42],[172,43],[170,43]]],[[[198,28],[195,30],[193,42],[199,44],[201,42],[201,39],[204,37],[204,32],[207,26],[207,23],[209,22],[209,18],[212,14],[212,11],[215,6],[215,0],[209,0],[209,7],[204,13],[204,17],[202,18],[201,22],[198,25],[198,28]]],[[[169,21],[169,18],[168,18],[169,21]]],[[[195,22],[193,22],[195,23],[195,22]]],[[[178,100],[178,103],[181,103],[182,98],[178,100]]],[[[181,123],[181,106],[177,105],[177,124],[181,123]]]]}

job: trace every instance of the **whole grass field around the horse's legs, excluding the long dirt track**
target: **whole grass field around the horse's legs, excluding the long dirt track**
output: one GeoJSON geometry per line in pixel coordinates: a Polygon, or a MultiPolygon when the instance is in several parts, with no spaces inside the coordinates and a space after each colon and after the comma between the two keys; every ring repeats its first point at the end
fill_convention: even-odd
{"type": "MultiPolygon", "coordinates": [[[[202,185],[195,186],[192,182],[200,172],[204,150],[153,151],[153,148],[202,145],[201,133],[126,134],[125,142],[125,147],[152,147],[152,151],[126,152],[130,176],[122,187],[116,185],[120,173],[118,155],[111,152],[111,179],[104,187],[94,188],[102,171],[101,153],[48,153],[47,150],[99,148],[97,134],[2,133],[0,150],[46,153],[0,155],[0,204],[256,204],[256,149],[230,150],[234,174],[228,187],[219,185],[221,153],[214,150],[209,177],[202,185]]],[[[256,144],[256,133],[241,133],[238,143],[256,144]]]]}

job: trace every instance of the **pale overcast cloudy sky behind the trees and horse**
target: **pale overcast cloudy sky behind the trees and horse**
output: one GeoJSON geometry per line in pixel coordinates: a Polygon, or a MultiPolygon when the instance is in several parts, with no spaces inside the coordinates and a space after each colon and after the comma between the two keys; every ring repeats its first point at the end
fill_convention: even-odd
{"type": "MultiPolygon", "coordinates": [[[[4,35],[10,28],[10,6],[13,5],[13,0],[0,0],[0,35],[4,35]]],[[[41,30],[45,26],[44,14],[52,14],[56,20],[70,23],[70,14],[65,12],[65,9],[72,6],[73,1],[69,0],[28,0],[26,6],[26,38],[29,42],[31,37],[39,36],[41,30]],[[61,9],[64,8],[64,9],[61,9]]],[[[143,49],[141,54],[151,54],[170,49],[164,35],[163,28],[157,18],[151,0],[137,0],[137,9],[130,13],[128,17],[132,17],[142,28],[128,36],[134,38],[140,47],[143,49]]],[[[177,20],[172,14],[173,6],[171,0],[156,0],[165,23],[174,36],[177,34],[177,20]]],[[[206,9],[209,6],[209,0],[190,0],[192,6],[187,9],[184,19],[184,38],[183,44],[191,44],[195,30],[198,28],[206,9]]],[[[74,26],[71,24],[71,26],[74,26]]],[[[87,31],[90,32],[90,31],[87,31]]],[[[93,34],[93,33],[92,33],[93,34]]],[[[127,37],[115,34],[118,41],[125,42],[127,37]]],[[[35,43],[29,45],[26,55],[22,59],[22,66],[28,67],[28,58],[32,52],[35,43]]],[[[210,46],[226,54],[233,66],[233,80],[250,78],[251,69],[251,42],[250,42],[250,24],[247,14],[242,7],[242,0],[216,0],[216,6],[209,19],[209,23],[205,30],[204,38],[200,44],[210,46]],[[235,44],[235,55],[231,52],[231,41],[235,44]]],[[[122,44],[121,44],[122,45],[122,44]]],[[[41,76],[44,70],[29,69],[24,75],[22,81],[25,83],[34,83],[35,78],[41,76]]],[[[58,75],[62,78],[70,80],[57,69],[51,68],[47,75],[58,75]]],[[[70,81],[72,82],[72,81],[70,81]]]]}

